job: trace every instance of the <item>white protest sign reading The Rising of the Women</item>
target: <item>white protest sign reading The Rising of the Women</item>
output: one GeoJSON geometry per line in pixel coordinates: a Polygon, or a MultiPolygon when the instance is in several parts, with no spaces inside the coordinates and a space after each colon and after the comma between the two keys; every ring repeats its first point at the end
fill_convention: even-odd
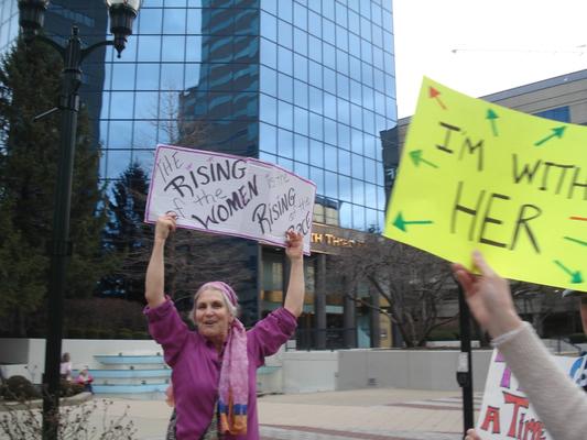
{"type": "Polygon", "coordinates": [[[145,221],[173,211],[180,228],[280,246],[294,230],[309,254],[315,196],[314,183],[267,162],[157,145],[145,221]]]}

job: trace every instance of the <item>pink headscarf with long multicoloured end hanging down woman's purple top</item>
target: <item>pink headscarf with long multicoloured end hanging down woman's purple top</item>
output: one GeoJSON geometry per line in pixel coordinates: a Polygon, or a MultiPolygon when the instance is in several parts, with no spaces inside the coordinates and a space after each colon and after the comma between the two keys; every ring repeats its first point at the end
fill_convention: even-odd
{"type": "MultiPolygon", "coordinates": [[[[220,290],[227,301],[237,307],[238,298],[232,288],[222,282],[206,283],[208,288],[220,290]]],[[[247,433],[247,403],[249,398],[249,360],[247,358],[247,332],[242,322],[233,317],[225,346],[220,382],[218,384],[218,414],[220,432],[232,436],[247,433]]]]}

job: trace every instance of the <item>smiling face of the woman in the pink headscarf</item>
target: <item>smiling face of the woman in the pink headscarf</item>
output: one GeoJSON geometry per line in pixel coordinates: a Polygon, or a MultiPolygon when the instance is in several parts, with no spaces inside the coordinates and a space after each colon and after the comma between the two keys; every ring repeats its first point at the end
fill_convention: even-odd
{"type": "Polygon", "coordinates": [[[233,318],[220,290],[206,289],[202,292],[194,315],[199,334],[216,343],[226,341],[233,318]]]}

